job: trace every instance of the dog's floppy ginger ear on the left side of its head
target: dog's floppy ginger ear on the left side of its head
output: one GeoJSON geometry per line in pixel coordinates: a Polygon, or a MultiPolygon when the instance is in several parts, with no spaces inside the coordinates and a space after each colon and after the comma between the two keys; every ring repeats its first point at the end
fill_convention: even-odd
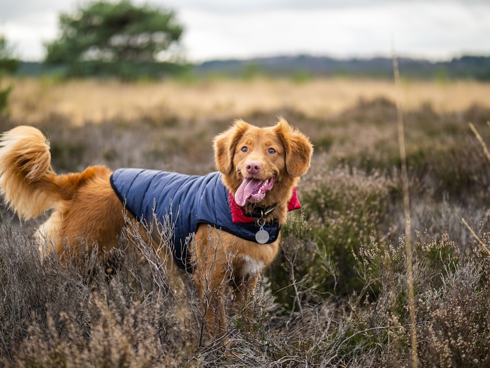
{"type": "Polygon", "coordinates": [[[236,120],[227,131],[218,134],[214,139],[215,161],[217,169],[229,174],[233,168],[233,156],[238,140],[250,125],[243,120],[236,120]]]}

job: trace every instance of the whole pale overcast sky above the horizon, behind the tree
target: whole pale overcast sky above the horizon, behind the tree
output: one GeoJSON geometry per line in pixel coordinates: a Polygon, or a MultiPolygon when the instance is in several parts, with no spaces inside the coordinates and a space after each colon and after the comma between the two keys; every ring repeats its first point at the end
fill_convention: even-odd
{"type": "MultiPolygon", "coordinates": [[[[490,54],[490,0],[134,0],[176,11],[191,61],[278,54],[450,59],[490,54]]],[[[0,33],[42,60],[60,12],[87,0],[0,0],[0,33]]]]}

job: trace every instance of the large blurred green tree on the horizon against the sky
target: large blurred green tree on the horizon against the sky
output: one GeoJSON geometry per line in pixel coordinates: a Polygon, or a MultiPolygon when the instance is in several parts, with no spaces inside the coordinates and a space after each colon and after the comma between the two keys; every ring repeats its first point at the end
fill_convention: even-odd
{"type": "Polygon", "coordinates": [[[45,62],[65,64],[69,75],[127,77],[176,68],[175,62],[158,62],[158,56],[178,45],[183,32],[173,11],[135,6],[129,0],[96,1],[73,14],[61,14],[59,26],[61,36],[45,45],[45,62]]]}

